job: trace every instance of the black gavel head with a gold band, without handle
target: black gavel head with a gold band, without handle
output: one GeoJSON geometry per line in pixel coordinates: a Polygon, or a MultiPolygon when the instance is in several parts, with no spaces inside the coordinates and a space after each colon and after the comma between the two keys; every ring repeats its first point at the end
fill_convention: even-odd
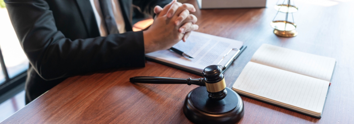
{"type": "Polygon", "coordinates": [[[222,100],[227,95],[226,83],[221,67],[211,65],[203,70],[206,90],[211,100],[222,100]]]}

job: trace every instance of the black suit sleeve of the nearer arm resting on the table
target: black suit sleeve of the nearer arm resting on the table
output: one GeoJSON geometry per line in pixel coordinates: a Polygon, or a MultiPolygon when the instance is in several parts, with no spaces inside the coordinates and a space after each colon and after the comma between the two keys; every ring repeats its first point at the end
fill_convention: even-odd
{"type": "Polygon", "coordinates": [[[45,80],[107,68],[144,67],[143,32],[70,40],[57,30],[45,0],[5,0],[20,44],[45,80]]]}

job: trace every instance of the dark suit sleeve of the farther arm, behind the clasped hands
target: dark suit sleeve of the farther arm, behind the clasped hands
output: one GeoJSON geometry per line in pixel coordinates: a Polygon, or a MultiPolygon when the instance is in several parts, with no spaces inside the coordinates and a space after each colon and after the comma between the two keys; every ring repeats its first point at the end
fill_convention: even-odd
{"type": "Polygon", "coordinates": [[[133,0],[133,5],[138,6],[143,13],[147,13],[154,17],[154,7],[162,8],[169,4],[172,0],[133,0]]]}

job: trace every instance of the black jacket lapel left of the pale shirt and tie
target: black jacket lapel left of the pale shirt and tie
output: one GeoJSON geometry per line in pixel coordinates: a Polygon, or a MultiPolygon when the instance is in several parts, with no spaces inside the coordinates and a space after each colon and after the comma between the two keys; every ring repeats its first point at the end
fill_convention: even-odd
{"type": "Polygon", "coordinates": [[[100,36],[95,14],[93,14],[90,1],[76,0],[76,3],[78,4],[81,11],[82,21],[85,23],[87,34],[90,36],[90,38],[100,36]]]}

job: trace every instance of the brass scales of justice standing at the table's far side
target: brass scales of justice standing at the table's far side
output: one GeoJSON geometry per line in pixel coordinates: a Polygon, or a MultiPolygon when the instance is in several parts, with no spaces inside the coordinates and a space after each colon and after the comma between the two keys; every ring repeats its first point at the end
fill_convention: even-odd
{"type": "Polygon", "coordinates": [[[284,4],[286,0],[283,1],[282,4],[277,4],[274,6],[275,10],[278,10],[278,12],[276,13],[274,19],[272,22],[270,22],[270,26],[272,26],[272,28],[274,28],[273,33],[275,35],[278,36],[283,36],[283,37],[293,37],[297,35],[296,32],[296,24],[294,22],[294,16],[293,13],[297,12],[297,7],[293,5],[291,5],[290,0],[287,0],[287,4],[284,4]],[[278,15],[279,12],[283,12],[286,14],[285,16],[285,21],[274,21],[276,16],[278,15]],[[292,16],[292,22],[288,21],[288,15],[289,13],[291,13],[292,16]]]}

